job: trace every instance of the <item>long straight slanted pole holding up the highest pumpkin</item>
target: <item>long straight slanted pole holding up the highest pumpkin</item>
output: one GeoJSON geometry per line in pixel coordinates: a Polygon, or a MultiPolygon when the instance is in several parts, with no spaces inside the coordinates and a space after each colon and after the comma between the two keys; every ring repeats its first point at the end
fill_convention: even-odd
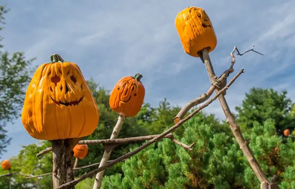
{"type": "MultiPolygon", "coordinates": [[[[213,66],[210,61],[208,50],[204,49],[204,50],[202,50],[202,53],[203,53],[203,59],[205,62],[205,66],[206,66],[206,69],[208,72],[209,79],[210,79],[211,83],[214,83],[214,81],[215,81],[214,78],[216,77],[216,75],[214,73],[213,66]]],[[[235,63],[235,61],[234,61],[234,63],[235,63]]],[[[218,89],[216,89],[215,93],[219,94],[220,91],[218,89]]],[[[266,177],[266,174],[264,173],[264,171],[260,167],[260,165],[257,162],[256,158],[254,157],[251,149],[249,148],[249,143],[244,139],[243,135],[241,134],[240,128],[236,124],[235,118],[234,118],[233,114],[231,113],[231,110],[227,104],[227,101],[226,101],[224,95],[220,95],[218,97],[218,100],[219,100],[220,105],[224,111],[226,121],[229,124],[230,128],[232,129],[234,136],[236,137],[236,141],[239,144],[240,149],[242,150],[243,154],[246,156],[247,160],[249,161],[250,166],[252,167],[254,173],[256,174],[256,176],[258,177],[258,179],[261,183],[263,183],[265,181],[267,183],[269,183],[269,181],[266,177]]]]}

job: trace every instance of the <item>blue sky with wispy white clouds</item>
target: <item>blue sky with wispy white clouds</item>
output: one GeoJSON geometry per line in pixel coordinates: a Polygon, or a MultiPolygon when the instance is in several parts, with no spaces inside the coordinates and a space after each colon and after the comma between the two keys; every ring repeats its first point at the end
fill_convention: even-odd
{"type": "MultiPolygon", "coordinates": [[[[77,63],[86,79],[92,77],[111,90],[123,76],[140,72],[145,101],[156,106],[166,97],[184,105],[206,92],[209,79],[200,59],[184,53],[175,17],[188,6],[206,10],[217,35],[210,53],[216,74],[230,65],[230,52],[252,48],[237,57],[235,70],[245,68],[226,98],[232,110],[251,87],[287,89],[295,100],[294,0],[1,0],[11,9],[5,15],[4,49],[23,51],[33,65],[49,62],[58,53],[77,63]]],[[[235,73],[236,73],[235,72],[235,73]]],[[[233,77],[234,75],[231,75],[233,77]]],[[[224,119],[218,101],[206,112],[224,119]]],[[[2,159],[18,154],[21,145],[36,143],[20,119],[6,127],[12,137],[2,159]]]]}

